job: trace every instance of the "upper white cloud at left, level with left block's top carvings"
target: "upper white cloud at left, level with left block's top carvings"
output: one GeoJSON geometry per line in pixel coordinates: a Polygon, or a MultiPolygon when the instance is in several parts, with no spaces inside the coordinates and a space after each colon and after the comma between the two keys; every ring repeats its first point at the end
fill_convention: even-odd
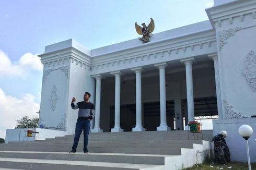
{"type": "Polygon", "coordinates": [[[31,70],[42,70],[40,57],[26,53],[18,62],[11,62],[8,55],[0,50],[0,76],[26,77],[31,70]]]}

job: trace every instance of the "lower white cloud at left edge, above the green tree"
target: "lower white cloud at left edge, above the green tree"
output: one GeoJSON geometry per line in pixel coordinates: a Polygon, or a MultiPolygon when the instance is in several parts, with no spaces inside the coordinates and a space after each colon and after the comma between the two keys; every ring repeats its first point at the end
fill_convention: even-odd
{"type": "Polygon", "coordinates": [[[0,88],[0,138],[5,138],[6,129],[14,129],[16,120],[23,116],[39,117],[39,104],[34,103],[34,96],[25,94],[21,99],[8,96],[0,88]]]}

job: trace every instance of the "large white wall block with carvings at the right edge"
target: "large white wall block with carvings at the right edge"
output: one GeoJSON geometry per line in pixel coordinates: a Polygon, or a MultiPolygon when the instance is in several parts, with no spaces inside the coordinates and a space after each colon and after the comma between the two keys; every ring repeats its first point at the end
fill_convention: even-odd
{"type": "Polygon", "coordinates": [[[215,27],[224,118],[255,115],[255,1],[232,1],[210,9],[215,27]]]}

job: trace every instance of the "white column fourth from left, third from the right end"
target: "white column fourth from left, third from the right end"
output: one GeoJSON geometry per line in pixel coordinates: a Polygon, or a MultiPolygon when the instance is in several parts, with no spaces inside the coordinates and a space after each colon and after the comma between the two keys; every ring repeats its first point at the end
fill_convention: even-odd
{"type": "Polygon", "coordinates": [[[166,123],[166,83],[165,83],[165,68],[166,63],[156,64],[159,68],[159,87],[160,87],[160,126],[156,128],[157,131],[170,130],[166,123]]]}

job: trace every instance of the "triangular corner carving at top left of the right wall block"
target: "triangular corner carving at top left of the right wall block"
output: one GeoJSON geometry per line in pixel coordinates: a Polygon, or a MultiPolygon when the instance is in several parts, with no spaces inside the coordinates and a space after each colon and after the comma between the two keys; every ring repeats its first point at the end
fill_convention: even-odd
{"type": "Polygon", "coordinates": [[[218,50],[222,50],[224,44],[227,43],[227,40],[234,36],[235,32],[239,31],[241,27],[237,27],[235,29],[230,28],[228,30],[223,30],[218,32],[218,50]]]}

